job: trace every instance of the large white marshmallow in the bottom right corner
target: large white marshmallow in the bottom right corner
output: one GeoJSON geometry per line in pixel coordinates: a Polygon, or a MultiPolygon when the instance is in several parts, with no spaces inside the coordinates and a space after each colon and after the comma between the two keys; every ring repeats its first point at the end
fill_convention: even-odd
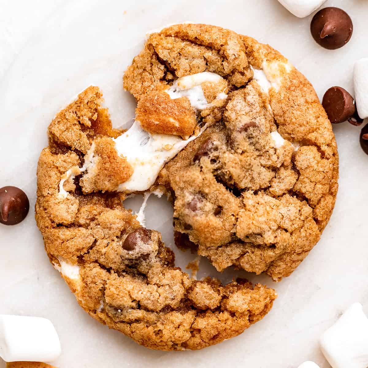
{"type": "Polygon", "coordinates": [[[332,368],[368,367],[368,318],[354,303],[320,339],[323,355],[332,368]]]}

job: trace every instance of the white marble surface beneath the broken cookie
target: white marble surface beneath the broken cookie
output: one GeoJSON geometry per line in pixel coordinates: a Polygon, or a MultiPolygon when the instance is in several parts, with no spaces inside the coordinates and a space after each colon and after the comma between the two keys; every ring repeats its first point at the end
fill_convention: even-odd
{"type": "MultiPolygon", "coordinates": [[[[0,314],[51,319],[63,348],[57,367],[294,368],[306,360],[329,367],[318,337],[351,303],[360,301],[368,312],[368,156],[358,144],[359,128],[334,126],[340,190],[321,241],[280,283],[250,276],[279,293],[272,311],[243,335],[202,351],[151,351],[91,319],[50,265],[33,218],[36,164],[47,145],[47,125],[92,83],[102,88],[114,124],[129,121],[134,99],[123,91],[121,77],[149,29],[187,20],[231,28],[289,57],[321,98],[333,85],[353,92],[354,61],[368,56],[368,1],[325,5],[344,8],[354,22],[353,38],[336,51],[316,45],[309,34],[312,15],[298,19],[276,0],[0,0],[0,187],[21,187],[31,202],[23,223],[0,226],[0,314]]],[[[149,199],[148,226],[161,230],[169,245],[170,216],[164,198],[149,199]],[[160,218],[153,216],[155,208],[160,218]]],[[[178,255],[178,263],[191,258],[178,255]]],[[[199,276],[215,275],[209,266],[203,269],[199,276]]],[[[226,272],[222,278],[233,275],[226,272]]],[[[0,362],[0,368],[4,365],[0,362]]]]}

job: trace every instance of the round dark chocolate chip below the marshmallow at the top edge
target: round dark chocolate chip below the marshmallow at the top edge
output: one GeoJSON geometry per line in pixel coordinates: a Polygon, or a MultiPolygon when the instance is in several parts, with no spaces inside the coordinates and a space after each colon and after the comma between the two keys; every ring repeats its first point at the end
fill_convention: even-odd
{"type": "Polygon", "coordinates": [[[328,50],[339,49],[350,40],[353,22],[342,9],[327,7],[314,15],[311,33],[318,45],[328,50]]]}

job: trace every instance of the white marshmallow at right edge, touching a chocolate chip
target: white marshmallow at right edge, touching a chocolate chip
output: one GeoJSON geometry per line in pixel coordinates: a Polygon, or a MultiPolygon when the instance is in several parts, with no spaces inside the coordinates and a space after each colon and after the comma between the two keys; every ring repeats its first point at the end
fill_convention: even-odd
{"type": "Polygon", "coordinates": [[[368,58],[358,60],[354,65],[355,102],[362,119],[368,117],[368,58]]]}

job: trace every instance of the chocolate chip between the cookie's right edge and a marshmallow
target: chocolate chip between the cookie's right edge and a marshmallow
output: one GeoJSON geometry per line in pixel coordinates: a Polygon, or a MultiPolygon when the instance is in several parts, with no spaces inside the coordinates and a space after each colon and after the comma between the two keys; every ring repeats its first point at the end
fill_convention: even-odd
{"type": "Polygon", "coordinates": [[[342,123],[352,118],[356,111],[354,99],[350,93],[337,86],[326,91],[322,99],[322,106],[333,124],[342,123]]]}

